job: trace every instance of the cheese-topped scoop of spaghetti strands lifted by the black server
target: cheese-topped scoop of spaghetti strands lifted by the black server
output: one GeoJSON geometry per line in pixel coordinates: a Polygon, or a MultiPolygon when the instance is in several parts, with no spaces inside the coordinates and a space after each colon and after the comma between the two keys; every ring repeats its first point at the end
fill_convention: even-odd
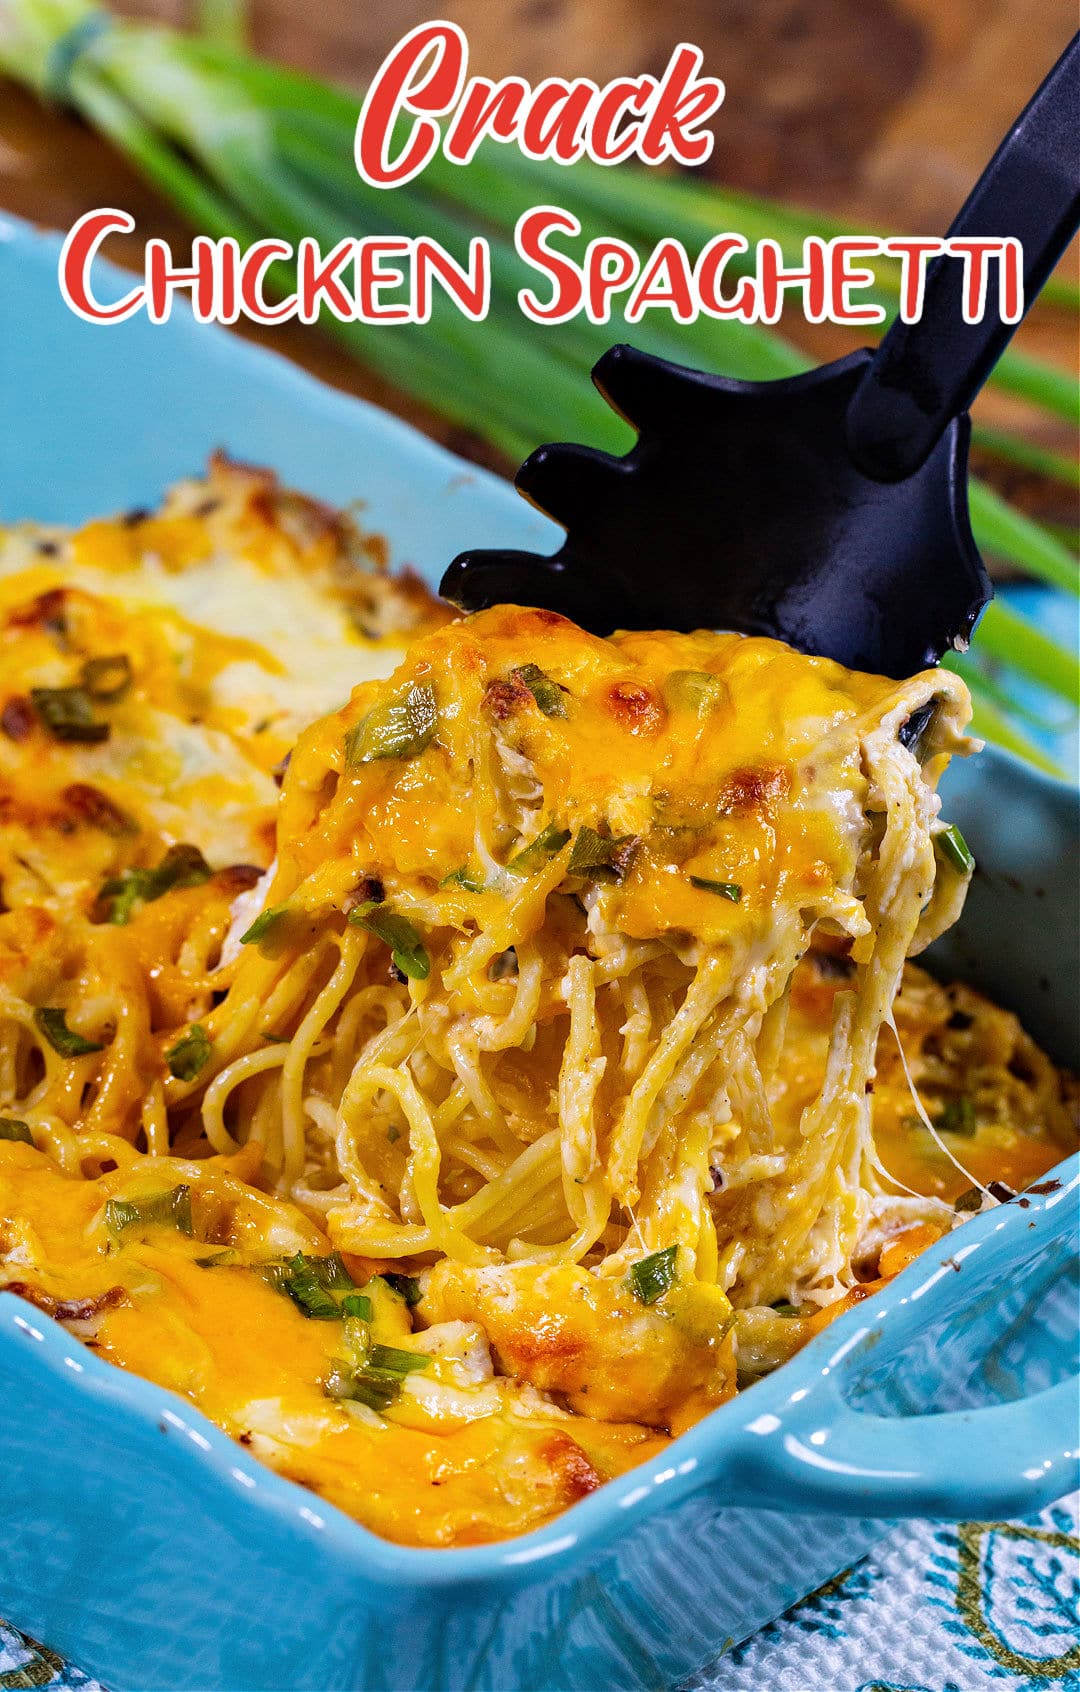
{"type": "Polygon", "coordinates": [[[731,1301],[838,1299],[879,1191],[879,1030],[963,897],[934,783],[967,716],[948,672],[769,640],[598,640],[513,606],[438,629],[301,736],[207,1019],[215,1078],[169,1083],[171,1115],[201,1093],[217,1151],[262,1140],[337,1245],[430,1269],[435,1316],[482,1311],[570,1398],[582,1342],[567,1369],[518,1343],[554,1298],[598,1335],[664,1298],[711,1354],[731,1301]],[[792,1120],[816,936],[853,973],[792,1120]]]}

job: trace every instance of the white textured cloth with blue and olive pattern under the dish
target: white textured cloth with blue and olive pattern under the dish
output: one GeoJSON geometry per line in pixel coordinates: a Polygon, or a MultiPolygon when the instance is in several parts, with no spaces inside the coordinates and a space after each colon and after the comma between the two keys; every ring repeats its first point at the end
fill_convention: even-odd
{"type": "MultiPolygon", "coordinates": [[[[1080,1692],[1078,1530],[1080,1497],[1028,1521],[907,1523],[696,1692],[1080,1692]]],[[[0,1692],[22,1687],[102,1692],[0,1623],[0,1692]]]]}

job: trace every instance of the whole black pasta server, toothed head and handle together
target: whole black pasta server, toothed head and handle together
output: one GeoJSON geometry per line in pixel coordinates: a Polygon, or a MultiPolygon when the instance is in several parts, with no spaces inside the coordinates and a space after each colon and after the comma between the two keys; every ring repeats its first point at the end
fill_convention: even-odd
{"type": "MultiPolygon", "coordinates": [[[[1080,36],[1006,135],[950,235],[1022,244],[1024,301],[1080,223],[1080,36]]],[[[618,459],[533,452],[516,486],[560,523],[552,557],[467,552],[442,592],[614,628],[772,634],[902,677],[963,646],[992,587],[968,523],[967,408],[1016,325],[990,264],[980,323],[962,262],[928,266],[923,316],[875,354],[738,382],[611,347],[592,379],[636,430],[618,459]]]]}

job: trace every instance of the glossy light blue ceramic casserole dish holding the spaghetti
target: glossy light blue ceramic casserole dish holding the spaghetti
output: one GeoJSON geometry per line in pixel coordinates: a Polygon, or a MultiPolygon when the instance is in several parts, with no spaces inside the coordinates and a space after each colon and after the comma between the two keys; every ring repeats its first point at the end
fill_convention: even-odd
{"type": "MultiPolygon", "coordinates": [[[[332,501],[364,491],[369,526],[428,579],[466,543],[545,545],[503,482],[234,337],[179,313],[78,323],[58,250],[0,218],[3,519],[152,503],[223,445],[332,501]]],[[[1077,1064],[1077,795],[989,751],[950,772],[948,814],[980,873],[938,970],[1077,1064]]],[[[672,1685],[892,1519],[1026,1513],[1075,1486],[1080,1161],[1041,1186],[662,1459],[455,1552],[376,1540],[3,1294],[0,1614],[113,1692],[672,1685]]]]}

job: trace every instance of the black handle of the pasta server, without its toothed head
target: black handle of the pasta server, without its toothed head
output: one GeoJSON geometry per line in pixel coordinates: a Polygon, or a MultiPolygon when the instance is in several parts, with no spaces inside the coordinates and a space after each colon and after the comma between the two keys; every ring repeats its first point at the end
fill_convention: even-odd
{"type": "MultiPolygon", "coordinates": [[[[953,237],[1012,235],[1024,262],[1024,310],[1080,225],[1080,36],[1033,95],[950,228],[953,237]]],[[[999,315],[999,267],[989,266],[985,311],[965,323],[960,259],[926,271],[923,316],[899,318],[848,406],[858,467],[899,482],[926,462],[948,423],[967,411],[1016,323],[999,315]]]]}

